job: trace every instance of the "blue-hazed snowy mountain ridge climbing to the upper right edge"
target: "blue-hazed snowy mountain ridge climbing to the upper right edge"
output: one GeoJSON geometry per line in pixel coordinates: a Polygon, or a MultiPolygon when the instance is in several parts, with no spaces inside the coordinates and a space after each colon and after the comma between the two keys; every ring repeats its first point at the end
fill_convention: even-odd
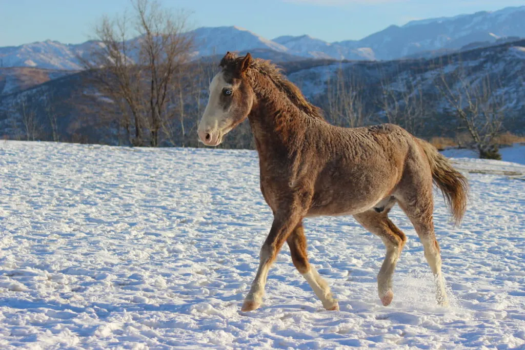
{"type": "Polygon", "coordinates": [[[414,20],[401,27],[391,25],[361,40],[328,43],[302,35],[280,36],[273,41],[307,57],[392,60],[418,55],[429,57],[433,53],[440,55],[472,43],[478,43],[477,47],[489,46],[508,37],[513,40],[525,37],[525,6],[414,20]]]}

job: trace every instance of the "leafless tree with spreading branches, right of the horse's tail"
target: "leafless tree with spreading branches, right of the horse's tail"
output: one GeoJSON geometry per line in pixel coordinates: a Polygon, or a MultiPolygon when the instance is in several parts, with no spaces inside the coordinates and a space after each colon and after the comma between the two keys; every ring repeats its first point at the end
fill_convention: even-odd
{"type": "Polygon", "coordinates": [[[481,158],[500,158],[493,140],[503,128],[505,95],[497,93],[501,87],[498,77],[490,73],[481,76],[469,74],[461,61],[450,73],[441,65],[436,87],[444,97],[447,108],[459,121],[459,130],[466,130],[481,158]]]}

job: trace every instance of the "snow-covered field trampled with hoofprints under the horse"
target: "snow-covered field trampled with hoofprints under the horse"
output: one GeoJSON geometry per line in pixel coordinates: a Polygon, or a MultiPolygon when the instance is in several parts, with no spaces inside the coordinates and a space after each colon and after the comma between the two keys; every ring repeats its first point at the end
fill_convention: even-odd
{"type": "Polygon", "coordinates": [[[272,219],[255,152],[2,142],[0,348],[524,348],[525,182],[467,175],[460,227],[435,196],[450,307],[395,208],[408,242],[390,306],[381,240],[321,217],[308,251],[341,311],[323,310],[285,246],[264,305],[242,313],[272,219]]]}

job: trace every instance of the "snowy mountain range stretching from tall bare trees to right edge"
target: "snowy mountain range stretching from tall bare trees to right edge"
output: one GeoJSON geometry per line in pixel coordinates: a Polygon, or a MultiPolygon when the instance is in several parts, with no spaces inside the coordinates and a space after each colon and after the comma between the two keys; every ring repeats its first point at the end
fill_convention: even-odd
{"type": "Polygon", "coordinates": [[[414,20],[389,26],[361,40],[329,43],[309,35],[284,35],[267,40],[239,27],[195,30],[198,56],[265,48],[305,57],[347,60],[392,60],[432,57],[472,47],[525,37],[525,6],[495,12],[414,20]],[[476,46],[470,46],[476,43],[476,46]]]}

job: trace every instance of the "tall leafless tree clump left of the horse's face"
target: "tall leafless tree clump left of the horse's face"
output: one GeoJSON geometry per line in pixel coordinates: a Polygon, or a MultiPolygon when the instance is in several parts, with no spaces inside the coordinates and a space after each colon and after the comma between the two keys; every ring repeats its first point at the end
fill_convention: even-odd
{"type": "Polygon", "coordinates": [[[169,96],[184,74],[193,38],[186,34],[188,15],[182,10],[149,0],[131,3],[132,16],[102,18],[95,28],[101,45],[81,60],[93,72],[97,90],[114,103],[131,143],[158,146],[160,131],[172,123],[169,96]]]}

